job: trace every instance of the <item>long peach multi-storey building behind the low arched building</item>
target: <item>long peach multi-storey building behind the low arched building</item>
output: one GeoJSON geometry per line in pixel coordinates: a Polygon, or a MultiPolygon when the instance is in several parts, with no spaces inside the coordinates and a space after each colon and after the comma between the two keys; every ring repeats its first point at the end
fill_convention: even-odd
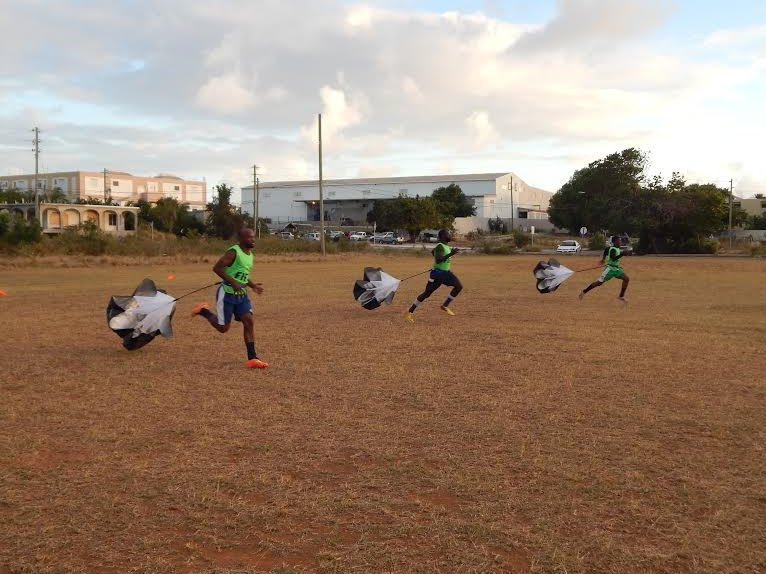
{"type": "MultiPolygon", "coordinates": [[[[207,203],[207,184],[204,181],[185,180],[167,174],[143,177],[108,170],[41,173],[37,176],[37,187],[41,193],[60,189],[69,201],[87,200],[89,197],[111,198],[125,205],[139,199],[154,203],[163,197],[172,197],[179,203],[189,204],[192,210],[204,209],[207,203]]],[[[0,176],[0,190],[33,191],[34,188],[34,174],[0,176]]]]}

